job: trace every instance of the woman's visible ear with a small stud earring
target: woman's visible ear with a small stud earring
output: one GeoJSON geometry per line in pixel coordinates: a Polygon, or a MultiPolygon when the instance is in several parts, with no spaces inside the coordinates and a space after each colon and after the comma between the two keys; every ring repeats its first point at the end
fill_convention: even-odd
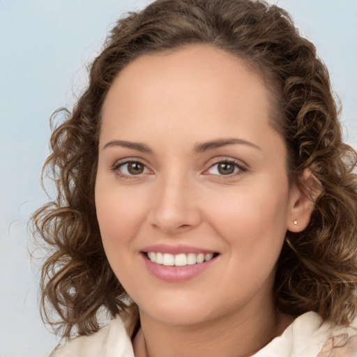
{"type": "Polygon", "coordinates": [[[287,229],[294,233],[301,232],[307,227],[315,202],[321,194],[319,180],[310,169],[305,169],[299,181],[300,187],[294,185],[291,188],[287,215],[287,229]]]}

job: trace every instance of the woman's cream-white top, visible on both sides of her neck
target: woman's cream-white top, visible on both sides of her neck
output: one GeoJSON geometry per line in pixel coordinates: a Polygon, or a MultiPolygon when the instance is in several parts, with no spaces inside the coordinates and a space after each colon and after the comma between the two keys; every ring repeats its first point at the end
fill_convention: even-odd
{"type": "MultiPolygon", "coordinates": [[[[314,312],[301,315],[252,357],[356,357],[357,321],[335,328],[321,321],[314,312]]],[[[134,357],[134,352],[123,321],[116,317],[93,335],[68,341],[52,357],[134,357]]]]}

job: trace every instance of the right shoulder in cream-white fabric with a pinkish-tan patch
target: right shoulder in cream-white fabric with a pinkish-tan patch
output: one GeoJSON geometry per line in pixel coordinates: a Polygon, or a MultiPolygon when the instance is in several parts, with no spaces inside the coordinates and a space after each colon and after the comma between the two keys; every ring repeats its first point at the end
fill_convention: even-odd
{"type": "Polygon", "coordinates": [[[324,324],[314,312],[298,317],[254,357],[356,357],[357,324],[324,324]]]}

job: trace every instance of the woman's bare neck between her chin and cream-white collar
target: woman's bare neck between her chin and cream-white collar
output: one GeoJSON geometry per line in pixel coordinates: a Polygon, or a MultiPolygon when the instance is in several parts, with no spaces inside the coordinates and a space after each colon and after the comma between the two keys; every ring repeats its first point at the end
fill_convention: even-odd
{"type": "Polygon", "coordinates": [[[134,340],[137,357],[246,357],[255,354],[291,323],[273,306],[190,326],[162,324],[143,312],[134,340]]]}

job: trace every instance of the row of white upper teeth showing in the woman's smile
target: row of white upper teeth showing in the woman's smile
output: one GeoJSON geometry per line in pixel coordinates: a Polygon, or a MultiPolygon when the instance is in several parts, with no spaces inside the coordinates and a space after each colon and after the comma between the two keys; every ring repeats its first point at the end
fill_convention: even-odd
{"type": "Polygon", "coordinates": [[[155,253],[148,252],[148,257],[153,263],[162,264],[165,266],[186,266],[192,264],[201,264],[204,261],[209,261],[213,258],[213,253],[204,255],[204,253],[188,253],[185,255],[181,253],[179,255],[172,255],[168,253],[155,253]]]}

